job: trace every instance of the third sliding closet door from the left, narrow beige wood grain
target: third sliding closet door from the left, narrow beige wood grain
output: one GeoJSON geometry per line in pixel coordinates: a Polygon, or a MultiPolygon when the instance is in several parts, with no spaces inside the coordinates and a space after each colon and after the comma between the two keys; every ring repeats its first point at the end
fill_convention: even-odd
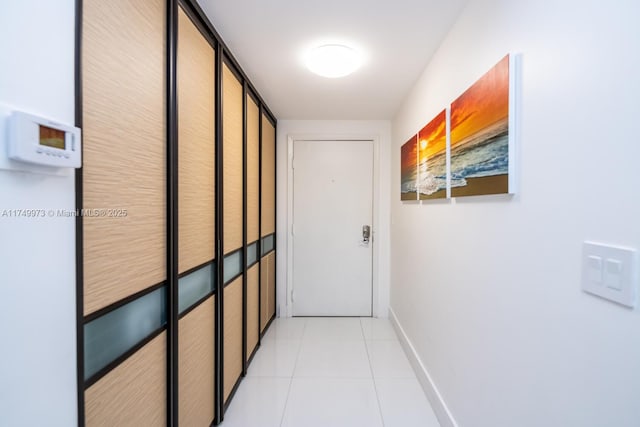
{"type": "Polygon", "coordinates": [[[243,85],[222,67],[223,157],[223,401],[242,374],[243,358],[243,85]]]}

